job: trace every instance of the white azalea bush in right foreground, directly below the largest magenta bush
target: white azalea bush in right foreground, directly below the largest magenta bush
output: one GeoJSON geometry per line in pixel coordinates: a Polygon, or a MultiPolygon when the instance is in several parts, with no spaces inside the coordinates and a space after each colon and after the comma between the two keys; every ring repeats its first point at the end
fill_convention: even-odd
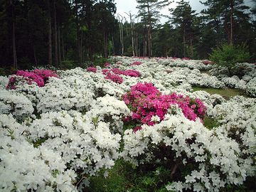
{"type": "MultiPolygon", "coordinates": [[[[222,129],[210,131],[199,119],[189,121],[182,112],[177,113],[166,115],[163,122],[153,127],[143,125],[136,133],[131,129],[125,131],[124,159],[135,165],[166,159],[172,160],[170,166],[171,162],[180,166],[192,162],[194,170],[185,176],[186,181],[166,186],[169,191],[188,188],[193,191],[219,191],[227,184],[242,184],[247,175],[255,174],[252,159],[242,159],[243,151],[238,142],[227,137],[220,131],[222,129]],[[166,156],[161,159],[156,151],[163,146],[166,147],[166,156]],[[166,151],[173,152],[173,159],[168,159],[166,151]]],[[[250,137],[255,137],[255,133],[250,134],[250,137]]]]}

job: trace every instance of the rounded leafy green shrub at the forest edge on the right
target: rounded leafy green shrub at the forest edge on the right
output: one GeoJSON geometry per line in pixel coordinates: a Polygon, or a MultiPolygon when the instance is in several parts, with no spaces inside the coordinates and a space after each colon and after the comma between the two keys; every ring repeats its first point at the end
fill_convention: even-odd
{"type": "Polygon", "coordinates": [[[244,63],[250,59],[250,53],[247,51],[245,44],[233,46],[224,43],[222,46],[215,48],[210,54],[210,60],[216,65],[228,68],[230,75],[233,75],[236,63],[244,63]]]}

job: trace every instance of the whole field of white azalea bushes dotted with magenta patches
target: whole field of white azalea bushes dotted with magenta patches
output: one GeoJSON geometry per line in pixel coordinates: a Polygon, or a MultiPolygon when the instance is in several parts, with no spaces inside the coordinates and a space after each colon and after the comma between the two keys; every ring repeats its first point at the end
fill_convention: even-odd
{"type": "Polygon", "coordinates": [[[256,99],[192,92],[233,87],[255,97],[254,65],[229,78],[207,60],[111,60],[58,75],[34,70],[42,80],[28,71],[0,77],[0,191],[85,191],[119,159],[164,167],[159,183],[169,191],[220,191],[255,176],[256,99]],[[128,104],[138,83],[155,92],[128,104]],[[204,115],[218,122],[213,129],[204,115]]]}

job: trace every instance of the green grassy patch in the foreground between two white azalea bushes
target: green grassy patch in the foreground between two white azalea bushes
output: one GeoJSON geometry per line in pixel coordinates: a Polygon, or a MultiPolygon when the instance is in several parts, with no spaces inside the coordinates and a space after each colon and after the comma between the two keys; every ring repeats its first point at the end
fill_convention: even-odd
{"type": "MultiPolygon", "coordinates": [[[[142,166],[143,167],[143,166],[142,166]]],[[[156,169],[151,167],[151,169],[156,169]]],[[[164,173],[164,171],[160,171],[164,173]]],[[[90,178],[90,187],[86,188],[88,192],[167,192],[165,184],[161,183],[160,175],[155,171],[142,168],[134,168],[131,164],[119,159],[114,167],[109,170],[107,178],[103,176],[102,171],[98,176],[90,178]]],[[[170,174],[166,172],[165,174],[170,174]]],[[[161,174],[163,175],[163,174],[161,174]]]]}

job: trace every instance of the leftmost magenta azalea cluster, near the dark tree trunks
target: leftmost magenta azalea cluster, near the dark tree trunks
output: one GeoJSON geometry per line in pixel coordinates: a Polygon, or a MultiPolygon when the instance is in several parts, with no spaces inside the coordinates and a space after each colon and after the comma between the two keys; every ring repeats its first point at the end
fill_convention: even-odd
{"type": "MultiPolygon", "coordinates": [[[[15,75],[23,77],[26,80],[26,82],[28,82],[29,85],[31,85],[32,82],[36,82],[38,87],[43,87],[50,77],[59,78],[58,75],[53,70],[40,70],[40,69],[36,69],[33,71],[18,70],[15,75]]],[[[16,76],[12,75],[11,78],[9,78],[9,83],[6,86],[7,89],[16,88],[15,87],[15,84],[17,82],[16,76]]]]}

